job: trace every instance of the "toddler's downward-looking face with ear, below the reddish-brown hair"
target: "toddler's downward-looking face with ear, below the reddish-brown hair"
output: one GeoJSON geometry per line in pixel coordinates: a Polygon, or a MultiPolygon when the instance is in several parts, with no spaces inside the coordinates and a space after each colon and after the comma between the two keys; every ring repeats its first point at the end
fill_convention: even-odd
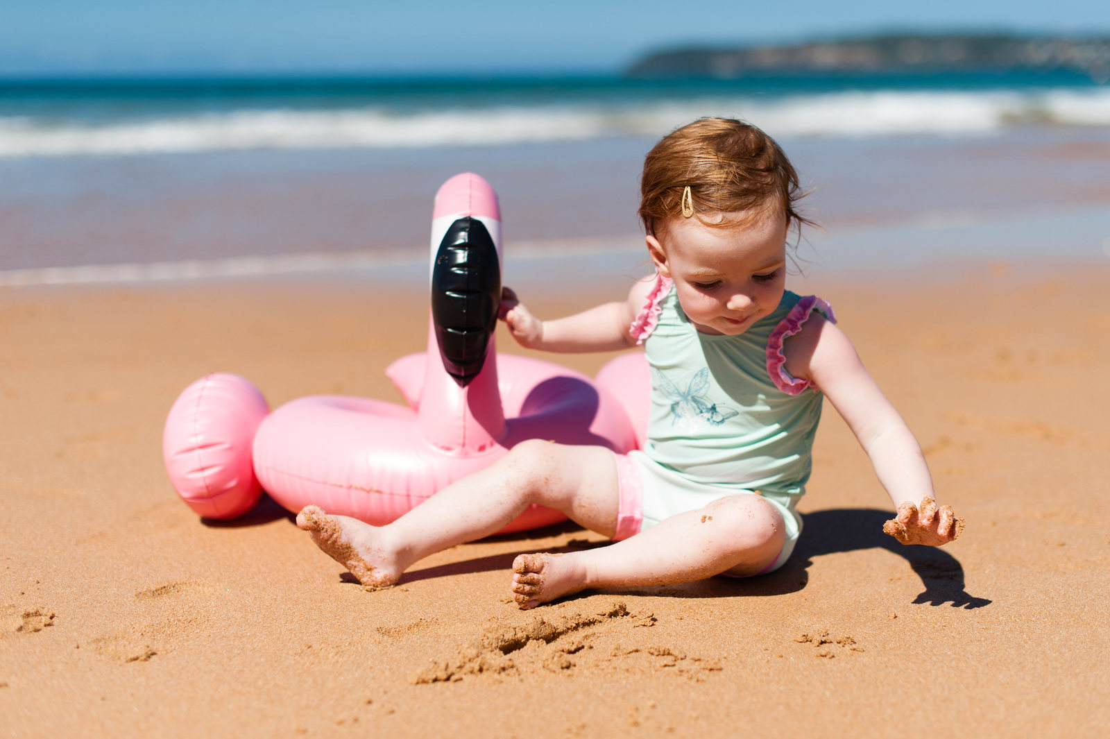
{"type": "MultiPolygon", "coordinates": [[[[729,214],[737,215],[737,214],[729,214]]],[[[769,315],[786,284],[786,217],[760,215],[714,227],[697,217],[668,221],[647,247],[675,281],[678,303],[705,334],[743,334],[769,315]]]]}

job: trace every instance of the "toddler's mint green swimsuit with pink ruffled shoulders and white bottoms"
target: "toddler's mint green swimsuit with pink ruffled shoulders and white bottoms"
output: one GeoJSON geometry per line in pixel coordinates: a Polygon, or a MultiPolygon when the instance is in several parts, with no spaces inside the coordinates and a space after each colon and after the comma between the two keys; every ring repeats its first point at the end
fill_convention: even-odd
{"type": "Polygon", "coordinates": [[[738,336],[703,334],[664,277],[634,324],[652,371],[647,444],[628,455],[639,468],[639,530],[737,493],[758,492],[786,522],[787,540],[768,568],[790,556],[801,532],[795,512],[811,468],[823,394],[787,374],[783,341],[825,301],[787,292],[738,336]]]}

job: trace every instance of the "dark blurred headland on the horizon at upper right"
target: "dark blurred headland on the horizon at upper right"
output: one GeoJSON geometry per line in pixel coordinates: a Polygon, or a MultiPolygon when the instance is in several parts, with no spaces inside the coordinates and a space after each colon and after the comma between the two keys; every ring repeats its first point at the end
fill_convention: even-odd
{"type": "Polygon", "coordinates": [[[686,47],[650,53],[633,78],[736,79],[766,73],[1076,71],[1110,80],[1110,37],[1008,33],[885,33],[839,40],[731,48],[686,47]]]}

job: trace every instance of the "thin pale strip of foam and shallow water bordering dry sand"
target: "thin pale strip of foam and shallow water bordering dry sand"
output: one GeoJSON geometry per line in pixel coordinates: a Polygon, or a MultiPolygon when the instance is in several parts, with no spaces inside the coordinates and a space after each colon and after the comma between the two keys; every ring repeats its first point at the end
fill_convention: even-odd
{"type": "MultiPolygon", "coordinates": [[[[1067,262],[1098,266],[1110,260],[1110,211],[1100,205],[1021,216],[922,213],[914,221],[841,224],[807,230],[794,250],[795,270],[840,277],[862,274],[888,280],[907,274],[959,272],[966,264],[1008,262],[1033,267],[1067,262]],[[891,247],[897,244],[896,247],[891,247]]],[[[0,290],[36,285],[154,285],[223,281],[425,280],[428,247],[235,256],[178,262],[88,264],[0,270],[0,290]]],[[[648,269],[643,235],[515,240],[505,246],[505,274],[573,273],[606,275],[648,269]]]]}

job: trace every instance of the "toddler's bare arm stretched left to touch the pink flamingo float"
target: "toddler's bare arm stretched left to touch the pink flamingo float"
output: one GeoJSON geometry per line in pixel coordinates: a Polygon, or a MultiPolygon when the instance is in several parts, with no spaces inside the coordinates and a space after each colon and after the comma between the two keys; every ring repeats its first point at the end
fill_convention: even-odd
{"type": "Polygon", "coordinates": [[[624,302],[605,303],[554,321],[535,317],[511,287],[503,287],[497,317],[505,322],[513,338],[527,348],[563,353],[627,348],[636,343],[628,330],[652,284],[638,281],[624,302]]]}

